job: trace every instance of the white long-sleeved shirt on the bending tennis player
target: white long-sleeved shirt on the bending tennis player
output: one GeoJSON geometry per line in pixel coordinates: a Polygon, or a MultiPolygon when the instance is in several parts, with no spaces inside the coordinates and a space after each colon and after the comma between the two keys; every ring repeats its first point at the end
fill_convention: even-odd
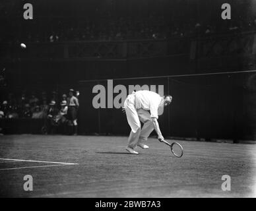
{"type": "Polygon", "coordinates": [[[136,102],[135,107],[136,109],[144,109],[150,111],[150,117],[154,117],[158,119],[158,107],[162,101],[162,98],[156,92],[151,92],[148,90],[140,90],[135,92],[136,102]]]}

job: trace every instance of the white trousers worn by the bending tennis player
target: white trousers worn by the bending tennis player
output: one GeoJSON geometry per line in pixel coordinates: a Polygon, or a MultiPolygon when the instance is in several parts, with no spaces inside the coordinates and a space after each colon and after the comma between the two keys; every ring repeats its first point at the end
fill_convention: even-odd
{"type": "Polygon", "coordinates": [[[128,146],[135,148],[138,143],[148,139],[148,136],[154,130],[154,123],[148,111],[135,108],[135,94],[127,96],[124,107],[127,121],[131,127],[128,146]],[[144,123],[142,129],[141,122],[144,123]]]}

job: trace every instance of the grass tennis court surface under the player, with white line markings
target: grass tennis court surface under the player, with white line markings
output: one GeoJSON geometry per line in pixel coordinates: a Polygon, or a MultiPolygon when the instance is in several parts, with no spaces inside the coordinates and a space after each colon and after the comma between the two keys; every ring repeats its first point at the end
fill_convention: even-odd
{"type": "MultiPolygon", "coordinates": [[[[169,140],[170,142],[174,140],[169,140]]],[[[8,135],[0,137],[0,196],[5,197],[251,197],[256,196],[256,145],[178,141],[182,158],[164,143],[127,154],[127,137],[8,135]],[[46,166],[46,167],[33,167],[46,166]],[[23,169],[10,169],[28,167],[23,169]],[[2,170],[1,170],[2,169],[2,170]],[[24,191],[32,175],[33,191],[24,191]],[[222,191],[230,175],[231,191],[222,191]]]]}

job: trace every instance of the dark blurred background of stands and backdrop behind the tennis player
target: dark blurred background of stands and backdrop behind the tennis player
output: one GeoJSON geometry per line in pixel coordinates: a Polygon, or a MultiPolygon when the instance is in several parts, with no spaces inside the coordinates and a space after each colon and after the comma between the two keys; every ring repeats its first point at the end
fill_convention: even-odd
{"type": "Polygon", "coordinates": [[[79,134],[126,135],[119,109],[92,107],[92,88],[113,79],[164,85],[174,96],[165,136],[256,140],[255,1],[31,0],[32,20],[25,3],[0,4],[3,133],[41,133],[43,114],[39,126],[28,123],[36,106],[44,113],[75,88],[79,134]],[[223,3],[231,20],[221,18],[223,3]]]}

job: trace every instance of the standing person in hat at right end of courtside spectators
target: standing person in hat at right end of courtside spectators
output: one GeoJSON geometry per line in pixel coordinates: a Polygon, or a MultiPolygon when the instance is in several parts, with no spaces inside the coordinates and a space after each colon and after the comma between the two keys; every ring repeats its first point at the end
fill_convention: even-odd
{"type": "Polygon", "coordinates": [[[74,96],[75,90],[69,90],[69,99],[67,101],[67,118],[72,121],[74,128],[74,135],[77,135],[77,111],[79,109],[79,100],[74,96]]]}

